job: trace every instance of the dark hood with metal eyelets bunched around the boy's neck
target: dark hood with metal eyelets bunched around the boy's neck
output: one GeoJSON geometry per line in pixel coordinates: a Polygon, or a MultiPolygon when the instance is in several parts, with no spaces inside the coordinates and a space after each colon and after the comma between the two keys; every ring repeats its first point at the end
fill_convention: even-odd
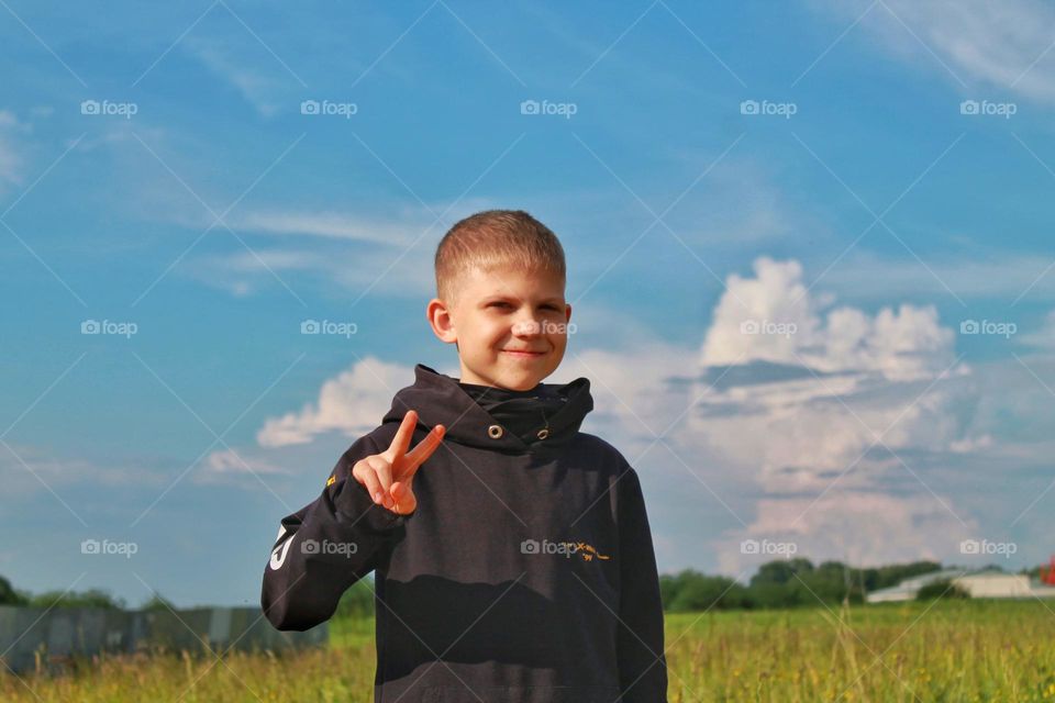
{"type": "MultiPolygon", "coordinates": [[[[590,381],[586,377],[569,383],[540,383],[535,391],[567,399],[553,414],[538,416],[538,432],[525,442],[496,420],[458,384],[456,379],[423,364],[414,367],[414,383],[392,399],[385,423],[400,423],[408,410],[418,412],[418,426],[425,432],[436,425],[446,428],[444,442],[493,449],[507,454],[524,454],[559,446],[575,437],[587,413],[593,410],[590,381]]],[[[498,390],[498,389],[496,389],[498,390]]]]}

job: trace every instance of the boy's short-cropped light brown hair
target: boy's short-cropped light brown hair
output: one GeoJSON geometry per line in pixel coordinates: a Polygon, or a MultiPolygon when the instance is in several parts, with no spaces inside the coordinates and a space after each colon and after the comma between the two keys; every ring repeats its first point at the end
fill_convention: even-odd
{"type": "Polygon", "coordinates": [[[454,304],[462,275],[512,266],[567,280],[564,247],[549,227],[523,210],[485,210],[460,220],[436,247],[436,295],[454,304]]]}

